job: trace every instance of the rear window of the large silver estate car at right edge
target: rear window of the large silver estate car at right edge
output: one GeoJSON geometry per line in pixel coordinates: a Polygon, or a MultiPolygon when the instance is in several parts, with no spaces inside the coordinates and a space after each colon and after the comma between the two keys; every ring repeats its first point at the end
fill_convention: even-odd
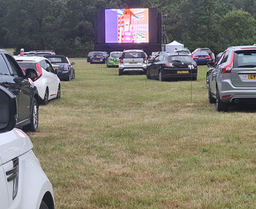
{"type": "Polygon", "coordinates": [[[256,50],[234,52],[234,67],[256,67],[256,50]]]}

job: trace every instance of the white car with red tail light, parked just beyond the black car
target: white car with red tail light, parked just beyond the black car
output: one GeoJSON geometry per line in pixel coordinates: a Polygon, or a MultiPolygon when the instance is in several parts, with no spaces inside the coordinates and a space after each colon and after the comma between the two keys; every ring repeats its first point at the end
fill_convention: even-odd
{"type": "Polygon", "coordinates": [[[47,105],[49,100],[60,99],[60,80],[56,75],[58,69],[54,69],[49,60],[44,57],[20,57],[14,56],[20,67],[34,68],[37,75],[34,78],[34,85],[37,87],[41,103],[47,105]]]}

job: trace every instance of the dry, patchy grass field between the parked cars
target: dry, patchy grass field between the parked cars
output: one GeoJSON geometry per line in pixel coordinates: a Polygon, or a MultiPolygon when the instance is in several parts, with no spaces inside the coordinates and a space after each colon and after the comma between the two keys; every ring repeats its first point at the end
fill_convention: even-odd
{"type": "Polygon", "coordinates": [[[56,208],[255,208],[256,108],[218,113],[198,80],[76,62],[28,133],[56,208]],[[116,71],[116,73],[118,73],[116,71]]]}

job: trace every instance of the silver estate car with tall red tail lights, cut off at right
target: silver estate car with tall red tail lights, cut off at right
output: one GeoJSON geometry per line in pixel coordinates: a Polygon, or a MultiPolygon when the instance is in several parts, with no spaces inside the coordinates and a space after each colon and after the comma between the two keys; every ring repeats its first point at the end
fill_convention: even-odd
{"type": "Polygon", "coordinates": [[[232,46],[220,57],[209,74],[209,102],[217,111],[227,111],[230,103],[256,103],[256,45],[232,46]]]}

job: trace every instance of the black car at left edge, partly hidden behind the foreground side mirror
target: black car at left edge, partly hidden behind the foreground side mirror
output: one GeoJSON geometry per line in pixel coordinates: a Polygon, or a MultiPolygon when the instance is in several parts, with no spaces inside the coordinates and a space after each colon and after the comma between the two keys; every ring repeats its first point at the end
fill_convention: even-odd
{"type": "Polygon", "coordinates": [[[32,68],[28,68],[25,74],[10,53],[0,50],[0,85],[16,96],[17,128],[31,131],[38,128],[39,95],[32,81],[36,74],[32,68]]]}

